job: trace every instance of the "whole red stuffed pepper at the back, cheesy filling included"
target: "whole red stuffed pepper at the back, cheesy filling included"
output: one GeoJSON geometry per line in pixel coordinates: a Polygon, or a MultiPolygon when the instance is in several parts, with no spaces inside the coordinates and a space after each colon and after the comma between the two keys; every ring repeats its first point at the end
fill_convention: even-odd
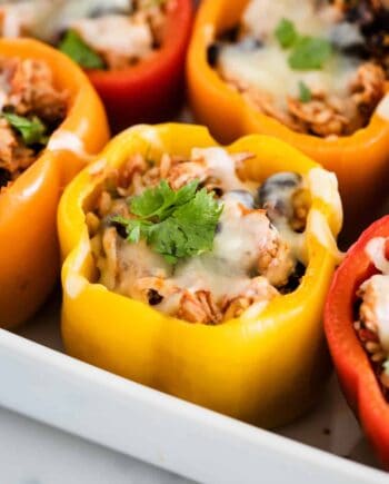
{"type": "Polygon", "coordinates": [[[177,112],[191,20],[191,0],[24,0],[0,6],[1,36],[36,37],[87,70],[114,130],[177,112]]]}

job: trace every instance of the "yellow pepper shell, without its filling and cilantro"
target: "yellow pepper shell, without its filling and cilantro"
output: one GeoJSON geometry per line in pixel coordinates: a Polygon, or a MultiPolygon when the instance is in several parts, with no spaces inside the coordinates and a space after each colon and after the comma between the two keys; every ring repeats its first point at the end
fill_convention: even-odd
{"type": "MultiPolygon", "coordinates": [[[[114,138],[97,162],[82,170],[59,208],[62,256],[62,337],[67,352],[96,366],[223,414],[273,427],[312,405],[328,373],[321,310],[338,261],[335,235],[341,206],[331,195],[313,195],[299,288],[272,299],[265,310],[218,326],[190,324],[97,284],[84,211],[109,169],[130,154],[159,159],[189,157],[192,147],[217,146],[198,126],[133,127],[114,138]]],[[[253,152],[249,178],[278,171],[307,175],[317,164],[273,138],[249,136],[227,148],[253,152]]],[[[323,171],[323,170],[321,170],[323,171]]],[[[325,172],[328,175],[327,172],[325,172]]]]}

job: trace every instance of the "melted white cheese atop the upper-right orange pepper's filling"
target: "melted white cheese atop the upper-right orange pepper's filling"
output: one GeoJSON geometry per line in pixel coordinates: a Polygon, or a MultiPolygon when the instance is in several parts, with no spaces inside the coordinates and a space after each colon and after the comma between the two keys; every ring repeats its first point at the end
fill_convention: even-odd
{"type": "Polygon", "coordinates": [[[265,42],[250,49],[245,42],[226,45],[220,52],[219,69],[228,79],[245,88],[255,88],[286,108],[287,97],[299,97],[299,82],[312,91],[345,97],[359,61],[352,57],[333,53],[320,70],[297,71],[288,65],[289,49],[282,49],[275,30],[283,18],[295,22],[298,32],[327,38],[339,45],[361,40],[358,27],[337,23],[338,12],[332,7],[317,9],[311,0],[251,0],[242,17],[243,32],[265,42]]]}

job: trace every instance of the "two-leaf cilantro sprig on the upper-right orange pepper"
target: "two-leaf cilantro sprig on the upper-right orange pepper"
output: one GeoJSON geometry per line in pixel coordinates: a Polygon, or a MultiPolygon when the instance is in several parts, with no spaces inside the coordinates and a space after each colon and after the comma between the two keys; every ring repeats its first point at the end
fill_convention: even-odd
{"type": "Polygon", "coordinates": [[[301,36],[293,22],[281,19],[275,36],[283,49],[291,49],[288,63],[293,70],[318,70],[332,55],[331,42],[327,39],[301,36]]]}

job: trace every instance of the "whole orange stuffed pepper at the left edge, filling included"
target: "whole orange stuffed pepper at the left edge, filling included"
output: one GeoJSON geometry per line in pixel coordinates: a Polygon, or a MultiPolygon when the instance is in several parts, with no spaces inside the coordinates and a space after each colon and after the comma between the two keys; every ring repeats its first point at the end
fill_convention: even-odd
{"type": "Polygon", "coordinates": [[[62,53],[0,39],[0,326],[11,327],[52,289],[60,194],[109,132],[93,88],[62,53]]]}

